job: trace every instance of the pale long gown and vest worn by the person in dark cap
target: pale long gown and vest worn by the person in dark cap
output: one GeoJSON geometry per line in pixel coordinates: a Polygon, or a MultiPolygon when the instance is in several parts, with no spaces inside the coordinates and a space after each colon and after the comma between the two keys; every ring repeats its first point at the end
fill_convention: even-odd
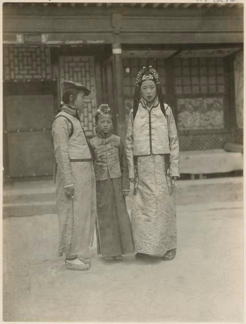
{"type": "Polygon", "coordinates": [[[63,106],[65,117],[54,120],[52,137],[57,163],[56,203],[59,221],[58,256],[85,255],[92,243],[96,217],[96,181],[93,161],[81,122],[75,117],[75,110],[63,106]],[[73,129],[73,131],[72,131],[73,129]],[[73,133],[74,139],[69,135],[73,133]],[[77,145],[73,151],[71,146],[77,145]],[[84,148],[86,159],[79,148],[84,148]],[[89,157],[89,158],[88,158],[89,157]],[[90,160],[88,160],[90,159],[90,160]],[[64,186],[73,184],[74,199],[66,197],[64,186]]]}

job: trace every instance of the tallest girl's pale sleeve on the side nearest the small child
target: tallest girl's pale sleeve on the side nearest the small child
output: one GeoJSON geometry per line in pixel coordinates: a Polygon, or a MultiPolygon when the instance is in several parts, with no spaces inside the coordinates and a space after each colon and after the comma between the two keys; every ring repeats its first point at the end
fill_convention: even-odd
{"type": "Polygon", "coordinates": [[[134,178],[134,162],[133,162],[133,111],[130,111],[129,121],[126,131],[126,159],[129,170],[129,178],[134,178]]]}

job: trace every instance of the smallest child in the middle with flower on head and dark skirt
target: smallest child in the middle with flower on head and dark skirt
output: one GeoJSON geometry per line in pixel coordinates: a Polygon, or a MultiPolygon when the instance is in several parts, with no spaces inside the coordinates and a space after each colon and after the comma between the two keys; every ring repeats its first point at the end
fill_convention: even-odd
{"type": "Polygon", "coordinates": [[[122,254],[134,252],[125,202],[130,188],[127,161],[120,137],[113,134],[109,105],[99,106],[95,122],[97,136],[90,144],[96,177],[97,253],[106,261],[122,260],[122,254]]]}

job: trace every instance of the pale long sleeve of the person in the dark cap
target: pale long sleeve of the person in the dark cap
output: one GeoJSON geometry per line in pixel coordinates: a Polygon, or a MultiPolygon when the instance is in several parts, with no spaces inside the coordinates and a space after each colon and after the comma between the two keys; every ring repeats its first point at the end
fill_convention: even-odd
{"type": "Polygon", "coordinates": [[[63,117],[54,120],[52,126],[52,137],[55,150],[56,163],[64,178],[64,186],[74,184],[74,178],[69,160],[68,139],[71,132],[69,121],[63,117]]]}

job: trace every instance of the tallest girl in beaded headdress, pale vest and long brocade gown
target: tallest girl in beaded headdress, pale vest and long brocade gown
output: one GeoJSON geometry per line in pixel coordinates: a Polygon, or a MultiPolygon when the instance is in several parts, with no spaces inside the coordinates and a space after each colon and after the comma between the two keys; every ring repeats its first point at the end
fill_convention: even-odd
{"type": "Polygon", "coordinates": [[[175,257],[174,179],[179,177],[179,141],[171,108],[163,102],[159,76],[143,67],[136,77],[126,134],[131,226],[136,257],[175,257]]]}

